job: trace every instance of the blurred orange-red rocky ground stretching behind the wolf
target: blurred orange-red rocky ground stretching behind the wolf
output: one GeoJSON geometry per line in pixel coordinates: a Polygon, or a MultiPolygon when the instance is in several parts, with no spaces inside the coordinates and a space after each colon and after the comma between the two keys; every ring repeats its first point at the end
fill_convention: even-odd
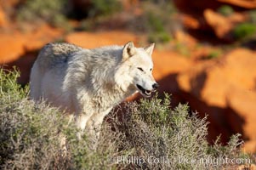
{"type": "MultiPolygon", "coordinates": [[[[111,31],[69,32],[45,23],[22,31],[9,16],[10,8],[17,2],[0,1],[0,65],[17,66],[21,84],[28,82],[31,65],[48,42],[71,42],[83,48],[122,45],[128,41],[146,43],[145,34],[115,28],[112,23],[111,31]]],[[[139,3],[124,2],[127,13],[139,3]]],[[[167,92],[173,95],[173,105],[188,102],[191,111],[198,111],[201,116],[207,114],[209,142],[221,134],[225,143],[231,134],[241,133],[244,150],[256,152],[256,44],[238,44],[231,34],[237,24],[248,20],[247,10],[255,9],[256,1],[176,0],[174,4],[179,9],[176,17],[182,29],[173,31],[174,39],[168,44],[156,44],[153,54],[159,95],[167,92]],[[216,9],[223,4],[236,11],[228,16],[219,14],[216,9]]]]}

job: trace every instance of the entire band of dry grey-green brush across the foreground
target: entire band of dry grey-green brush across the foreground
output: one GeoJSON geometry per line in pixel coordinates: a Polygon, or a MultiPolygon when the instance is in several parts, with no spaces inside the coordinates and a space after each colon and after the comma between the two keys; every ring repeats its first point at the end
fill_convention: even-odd
{"type": "Polygon", "coordinates": [[[230,165],[192,160],[240,156],[237,135],[227,146],[208,145],[206,118],[190,115],[188,105],[171,109],[168,95],[117,107],[91,150],[90,139],[78,140],[74,123],[60,111],[27,99],[16,77],[16,71],[0,71],[0,168],[221,169],[230,165]],[[60,145],[64,136],[66,151],[60,145]]]}

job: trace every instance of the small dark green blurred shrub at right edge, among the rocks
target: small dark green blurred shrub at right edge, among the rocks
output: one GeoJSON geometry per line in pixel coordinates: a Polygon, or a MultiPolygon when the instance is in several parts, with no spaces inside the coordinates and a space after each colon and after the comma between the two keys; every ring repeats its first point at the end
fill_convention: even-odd
{"type": "Polygon", "coordinates": [[[238,40],[251,37],[255,34],[256,26],[251,23],[242,23],[237,25],[232,31],[234,37],[238,40]]]}

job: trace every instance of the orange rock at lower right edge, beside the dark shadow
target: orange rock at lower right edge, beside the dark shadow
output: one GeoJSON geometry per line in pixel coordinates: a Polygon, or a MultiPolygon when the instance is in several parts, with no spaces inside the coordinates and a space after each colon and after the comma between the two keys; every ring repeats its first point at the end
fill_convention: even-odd
{"type": "Polygon", "coordinates": [[[230,88],[227,102],[233,111],[233,113],[226,114],[228,123],[233,129],[236,129],[236,132],[241,131],[243,138],[246,139],[244,150],[255,152],[256,91],[230,88]]]}

